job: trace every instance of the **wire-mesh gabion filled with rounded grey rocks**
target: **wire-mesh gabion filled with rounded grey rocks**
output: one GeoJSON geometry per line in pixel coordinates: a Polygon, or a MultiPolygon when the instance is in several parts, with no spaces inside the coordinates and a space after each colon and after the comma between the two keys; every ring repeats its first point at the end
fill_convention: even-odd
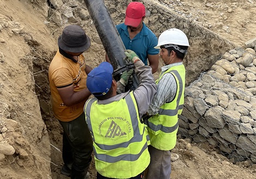
{"type": "Polygon", "coordinates": [[[179,133],[231,162],[256,163],[256,52],[236,48],[185,89],[179,133]]]}

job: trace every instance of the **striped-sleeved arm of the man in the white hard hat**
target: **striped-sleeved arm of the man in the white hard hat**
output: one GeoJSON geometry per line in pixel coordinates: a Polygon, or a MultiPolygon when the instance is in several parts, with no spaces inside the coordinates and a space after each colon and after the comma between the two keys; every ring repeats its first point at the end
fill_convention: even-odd
{"type": "Polygon", "coordinates": [[[160,107],[166,103],[166,101],[172,101],[174,99],[176,87],[174,76],[170,73],[164,74],[157,84],[157,92],[148,109],[150,116],[159,113],[160,107]]]}

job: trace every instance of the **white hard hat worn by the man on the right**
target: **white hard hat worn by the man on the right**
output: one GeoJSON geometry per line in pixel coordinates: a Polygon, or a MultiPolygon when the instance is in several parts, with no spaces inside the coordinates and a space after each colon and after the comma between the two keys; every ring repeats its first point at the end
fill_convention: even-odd
{"type": "Polygon", "coordinates": [[[188,43],[186,34],[180,29],[176,29],[176,28],[163,31],[163,33],[159,36],[157,46],[154,48],[160,49],[160,46],[163,46],[166,44],[176,44],[178,46],[187,46],[187,47],[190,46],[190,44],[188,43]]]}

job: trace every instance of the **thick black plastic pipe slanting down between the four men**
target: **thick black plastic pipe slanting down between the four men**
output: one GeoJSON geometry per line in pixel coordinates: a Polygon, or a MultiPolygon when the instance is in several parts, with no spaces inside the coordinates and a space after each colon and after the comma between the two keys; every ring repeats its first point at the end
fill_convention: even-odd
{"type": "MultiPolygon", "coordinates": [[[[86,7],[92,17],[93,23],[100,36],[103,47],[106,50],[109,60],[114,68],[114,79],[119,80],[124,71],[135,68],[133,63],[127,63],[124,53],[125,46],[112,21],[111,15],[103,0],[84,0],[86,7]]],[[[138,76],[133,73],[132,79],[126,85],[126,90],[135,89],[139,85],[138,76]]]]}

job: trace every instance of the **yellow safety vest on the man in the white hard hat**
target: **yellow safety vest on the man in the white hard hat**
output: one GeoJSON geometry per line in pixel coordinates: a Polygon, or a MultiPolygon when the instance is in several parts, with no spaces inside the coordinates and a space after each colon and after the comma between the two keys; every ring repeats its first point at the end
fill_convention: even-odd
{"type": "Polygon", "coordinates": [[[173,101],[165,103],[160,107],[159,114],[155,114],[145,121],[148,126],[150,143],[159,150],[171,150],[176,145],[176,134],[178,131],[178,115],[181,114],[184,105],[185,89],[185,67],[184,65],[173,66],[163,74],[160,74],[156,84],[166,73],[173,74],[177,90],[173,101]]]}

